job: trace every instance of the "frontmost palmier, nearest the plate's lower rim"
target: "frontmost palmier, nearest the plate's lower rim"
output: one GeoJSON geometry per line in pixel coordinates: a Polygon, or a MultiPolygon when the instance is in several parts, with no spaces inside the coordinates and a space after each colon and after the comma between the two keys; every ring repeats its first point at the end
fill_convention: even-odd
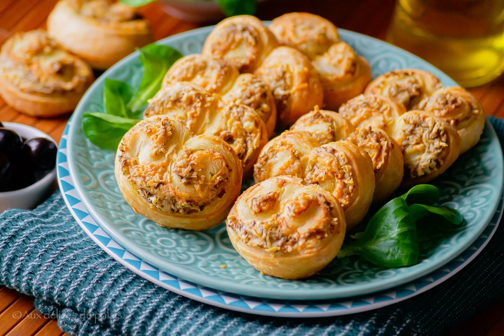
{"type": "Polygon", "coordinates": [[[346,232],[345,216],[331,193],[288,176],[245,190],[226,228],[250,265],[285,279],[305,278],[324,268],[340,250],[346,232]]]}

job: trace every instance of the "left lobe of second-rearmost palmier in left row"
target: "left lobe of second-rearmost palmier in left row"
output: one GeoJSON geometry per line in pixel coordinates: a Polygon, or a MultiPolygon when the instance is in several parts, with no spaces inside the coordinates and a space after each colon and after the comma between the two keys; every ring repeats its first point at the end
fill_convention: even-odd
{"type": "Polygon", "coordinates": [[[219,22],[210,32],[202,53],[224,58],[241,73],[253,73],[278,41],[254,16],[238,15],[219,22]]]}

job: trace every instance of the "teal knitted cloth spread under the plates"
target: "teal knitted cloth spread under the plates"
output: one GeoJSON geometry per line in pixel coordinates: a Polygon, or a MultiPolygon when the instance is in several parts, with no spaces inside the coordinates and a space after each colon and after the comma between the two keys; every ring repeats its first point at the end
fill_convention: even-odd
{"type": "MultiPolygon", "coordinates": [[[[502,141],[504,122],[490,118],[502,141]]],[[[171,293],[125,268],[81,230],[59,191],[0,216],[0,284],[35,297],[71,335],[435,335],[504,297],[504,225],[442,284],[403,302],[327,318],[238,313],[171,293]]]]}

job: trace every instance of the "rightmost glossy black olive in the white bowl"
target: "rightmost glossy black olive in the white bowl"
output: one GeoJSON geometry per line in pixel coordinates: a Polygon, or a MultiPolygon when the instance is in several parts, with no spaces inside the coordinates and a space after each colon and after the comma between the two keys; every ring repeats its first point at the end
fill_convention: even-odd
{"type": "Polygon", "coordinates": [[[22,154],[27,164],[42,170],[51,170],[56,165],[57,147],[46,138],[33,138],[23,144],[22,154]]]}

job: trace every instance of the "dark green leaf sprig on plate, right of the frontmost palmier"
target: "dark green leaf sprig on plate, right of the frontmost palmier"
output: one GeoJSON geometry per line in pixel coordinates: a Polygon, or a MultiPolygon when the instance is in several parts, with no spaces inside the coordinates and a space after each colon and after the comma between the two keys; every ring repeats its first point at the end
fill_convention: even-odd
{"type": "Polygon", "coordinates": [[[416,264],[419,219],[435,215],[454,225],[464,220],[456,209],[432,205],[438,200],[439,191],[432,185],[418,185],[393,198],[369,219],[364,232],[343,245],[338,258],[358,254],[375,265],[393,268],[416,264]]]}

